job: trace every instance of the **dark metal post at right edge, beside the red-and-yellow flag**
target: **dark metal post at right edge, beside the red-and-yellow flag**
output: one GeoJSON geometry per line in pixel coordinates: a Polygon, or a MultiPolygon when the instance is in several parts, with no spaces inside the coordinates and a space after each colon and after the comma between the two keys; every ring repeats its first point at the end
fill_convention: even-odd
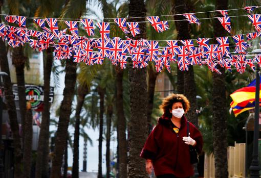
{"type": "Polygon", "coordinates": [[[255,78],[255,120],[254,120],[254,140],[253,140],[253,154],[250,165],[250,178],[259,178],[259,163],[258,163],[258,138],[259,138],[259,66],[256,64],[256,78],[255,78]]]}

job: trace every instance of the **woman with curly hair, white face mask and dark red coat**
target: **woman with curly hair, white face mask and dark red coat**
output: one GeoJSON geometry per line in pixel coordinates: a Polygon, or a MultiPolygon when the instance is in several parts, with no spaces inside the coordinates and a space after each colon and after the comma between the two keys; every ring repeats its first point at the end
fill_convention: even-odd
{"type": "Polygon", "coordinates": [[[183,94],[167,96],[160,108],[164,111],[158,124],[149,134],[140,157],[146,159],[146,171],[154,167],[157,178],[185,178],[194,174],[190,164],[189,145],[200,153],[203,139],[200,131],[189,122],[184,113],[189,110],[189,101],[183,94]]]}

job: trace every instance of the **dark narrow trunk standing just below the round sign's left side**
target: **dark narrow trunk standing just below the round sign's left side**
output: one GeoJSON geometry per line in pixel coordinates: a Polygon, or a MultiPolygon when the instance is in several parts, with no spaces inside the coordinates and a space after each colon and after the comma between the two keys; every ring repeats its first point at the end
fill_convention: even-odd
{"type": "Polygon", "coordinates": [[[30,178],[31,177],[31,157],[32,157],[32,140],[33,140],[33,114],[32,110],[29,109],[26,112],[25,118],[25,142],[24,142],[24,177],[30,178]]]}

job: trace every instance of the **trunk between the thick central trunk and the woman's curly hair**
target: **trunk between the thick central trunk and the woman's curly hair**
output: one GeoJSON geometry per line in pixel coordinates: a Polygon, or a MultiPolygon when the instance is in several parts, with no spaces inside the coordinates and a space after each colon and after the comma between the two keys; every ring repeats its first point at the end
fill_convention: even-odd
{"type": "Polygon", "coordinates": [[[158,73],[155,71],[153,66],[148,68],[148,107],[147,107],[147,124],[148,124],[148,134],[153,130],[151,124],[151,114],[153,113],[153,103],[154,103],[154,92],[158,73]]]}

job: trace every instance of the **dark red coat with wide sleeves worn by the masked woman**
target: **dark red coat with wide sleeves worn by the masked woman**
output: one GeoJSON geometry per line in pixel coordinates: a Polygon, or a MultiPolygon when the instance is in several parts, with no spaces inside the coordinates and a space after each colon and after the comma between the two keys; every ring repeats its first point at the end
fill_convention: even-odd
{"type": "MultiPolygon", "coordinates": [[[[200,131],[189,123],[190,137],[194,139],[198,153],[201,152],[203,139],[200,131]]],[[[182,140],[187,137],[187,119],[181,119],[179,133],[173,131],[169,118],[159,118],[158,124],[149,134],[140,157],[153,161],[156,176],[174,174],[177,177],[188,177],[194,174],[190,164],[189,146],[182,140]]]]}

